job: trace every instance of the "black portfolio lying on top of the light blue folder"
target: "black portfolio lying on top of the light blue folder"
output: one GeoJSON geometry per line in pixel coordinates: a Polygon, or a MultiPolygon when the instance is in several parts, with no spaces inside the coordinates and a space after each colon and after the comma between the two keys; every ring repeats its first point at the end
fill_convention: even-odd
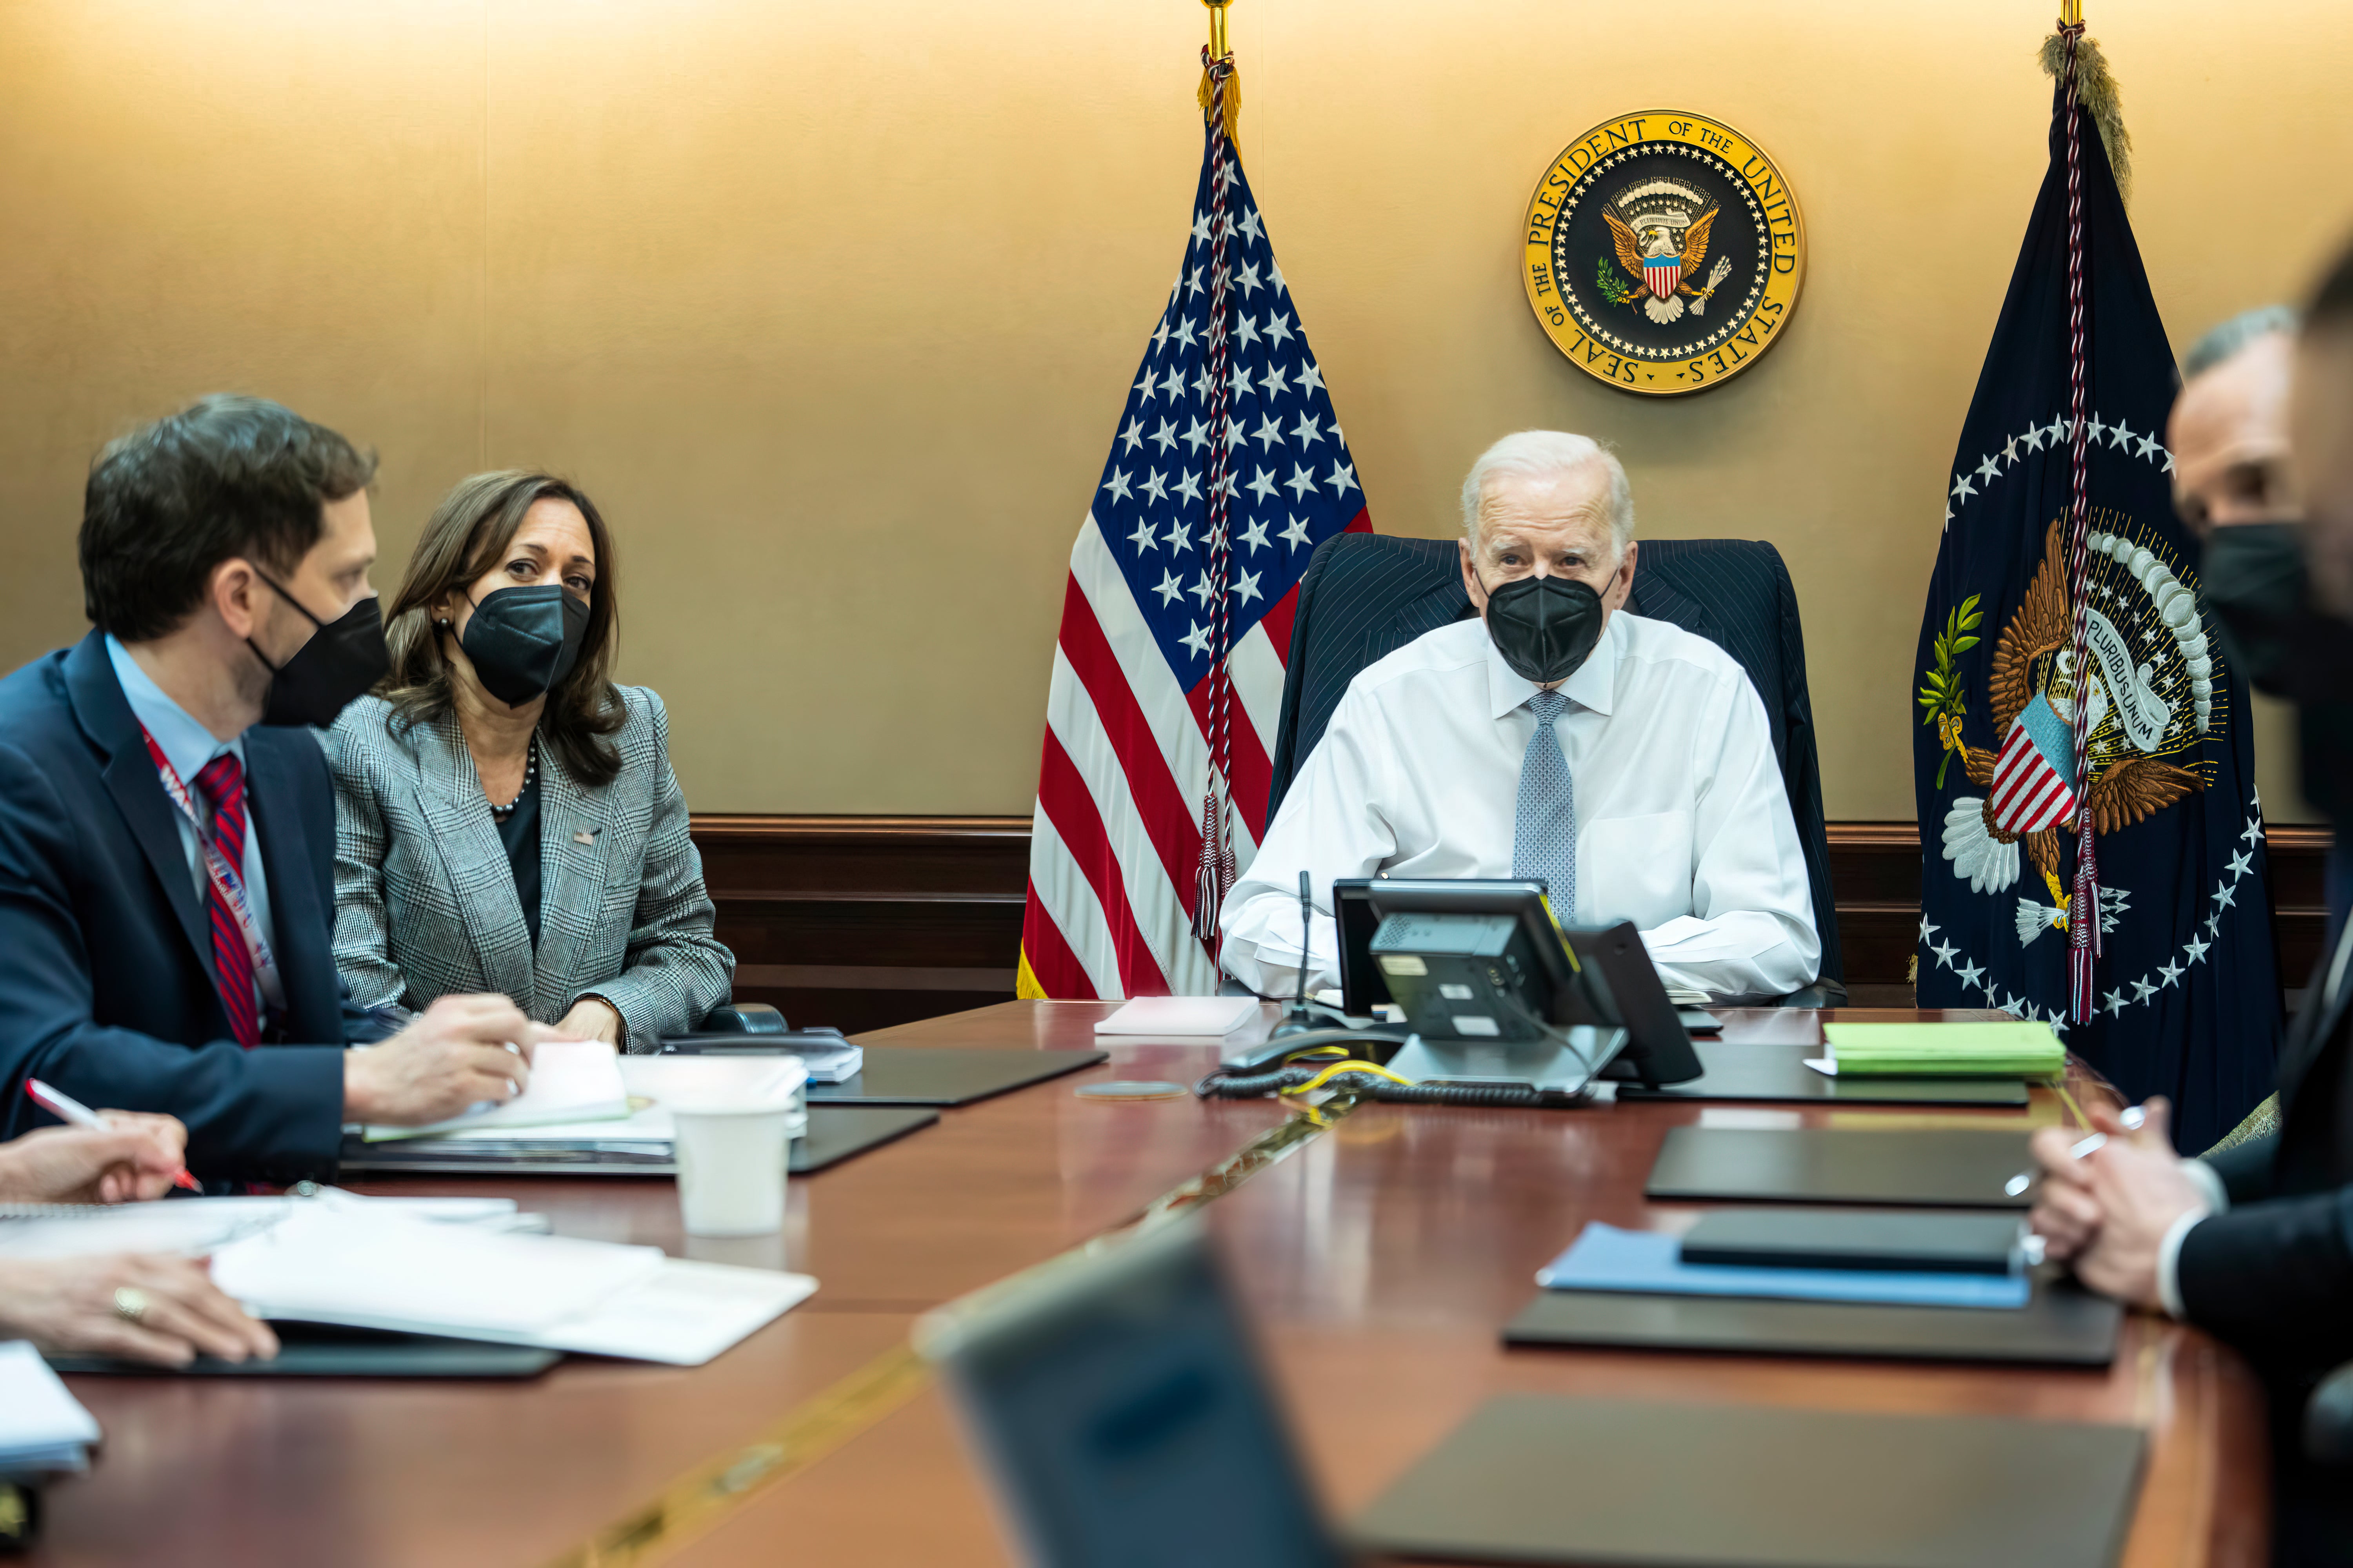
{"type": "Polygon", "coordinates": [[[2007,1274],[2026,1220],[1965,1208],[1711,1208],[1682,1260],[1751,1269],[2007,1274]]]}

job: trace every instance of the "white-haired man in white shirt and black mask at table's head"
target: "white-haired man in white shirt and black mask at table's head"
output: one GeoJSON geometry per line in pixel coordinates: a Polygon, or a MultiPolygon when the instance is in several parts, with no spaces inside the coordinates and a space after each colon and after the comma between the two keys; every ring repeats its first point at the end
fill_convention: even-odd
{"type": "Polygon", "coordinates": [[[1626,614],[1633,491],[1598,442],[1522,430],[1464,480],[1478,621],[1362,670],[1226,900],[1224,966],[1339,983],[1332,882],[1544,877],[1567,926],[1635,922],[1668,985],[1777,997],[1821,959],[1765,705],[1720,646],[1626,614]]]}

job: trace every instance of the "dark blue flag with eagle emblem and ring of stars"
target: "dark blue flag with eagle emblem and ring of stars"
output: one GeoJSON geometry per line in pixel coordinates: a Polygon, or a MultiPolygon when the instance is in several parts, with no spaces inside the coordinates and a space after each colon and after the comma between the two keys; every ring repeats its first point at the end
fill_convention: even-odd
{"type": "Polygon", "coordinates": [[[2071,110],[2064,82],[2049,148],[1953,456],[1920,623],[1920,1006],[2049,1020],[2127,1098],[2169,1095],[2177,1143],[2195,1152],[2273,1081],[2264,806],[2245,686],[2221,661],[2198,550],[2174,520],[2174,355],[2099,129],[2071,110]],[[2078,907],[2080,809],[2092,816],[2097,914],[2078,907]],[[2092,1020],[2071,1023],[2068,940],[2094,917],[2092,1020]]]}

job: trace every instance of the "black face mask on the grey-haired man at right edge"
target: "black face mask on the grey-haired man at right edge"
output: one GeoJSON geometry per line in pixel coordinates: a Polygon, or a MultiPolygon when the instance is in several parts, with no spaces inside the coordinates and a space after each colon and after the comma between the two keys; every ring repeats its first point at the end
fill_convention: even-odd
{"type": "Polygon", "coordinates": [[[2304,799],[2353,832],[2353,623],[2313,607],[2304,524],[2214,529],[2200,559],[2205,599],[2226,661],[2257,691],[2297,705],[2304,799]]]}

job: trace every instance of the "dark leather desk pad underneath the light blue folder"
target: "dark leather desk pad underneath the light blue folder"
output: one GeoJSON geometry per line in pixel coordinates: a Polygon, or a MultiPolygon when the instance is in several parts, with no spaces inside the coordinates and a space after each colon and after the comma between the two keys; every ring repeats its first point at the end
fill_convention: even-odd
{"type": "Polygon", "coordinates": [[[1541,1291],[1504,1324],[1504,1342],[2108,1366],[2122,1324],[2122,1307],[2052,1274],[2038,1276],[2033,1300],[2017,1309],[1541,1291]]]}

